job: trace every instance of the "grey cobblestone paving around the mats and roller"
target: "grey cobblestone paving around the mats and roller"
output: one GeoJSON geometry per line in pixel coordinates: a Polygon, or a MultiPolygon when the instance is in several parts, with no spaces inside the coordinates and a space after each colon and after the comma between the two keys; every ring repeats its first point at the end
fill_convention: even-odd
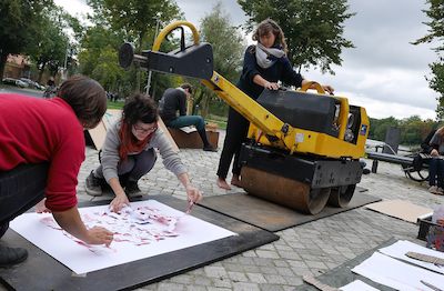
{"type": "MultiPolygon", "coordinates": [[[[192,149],[180,152],[193,183],[205,197],[226,193],[215,185],[219,154],[192,149]]],[[[79,174],[80,201],[91,200],[84,192],[84,179],[98,164],[97,151],[87,148],[79,174]]],[[[382,199],[410,200],[431,208],[444,202],[444,197],[430,194],[426,184],[406,179],[398,165],[384,162],[380,162],[376,174],[364,175],[360,185],[382,199]]],[[[148,194],[161,192],[185,199],[183,188],[161,160],[142,178],[140,188],[148,194]]],[[[327,272],[391,237],[423,243],[415,239],[417,231],[413,223],[360,208],[276,232],[279,241],[139,290],[296,290],[303,274],[327,272]]]]}

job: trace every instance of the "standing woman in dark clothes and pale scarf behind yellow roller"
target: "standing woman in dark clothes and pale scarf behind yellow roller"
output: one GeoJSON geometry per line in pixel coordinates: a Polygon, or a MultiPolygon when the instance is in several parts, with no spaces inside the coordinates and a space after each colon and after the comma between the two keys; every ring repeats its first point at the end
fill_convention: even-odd
{"type": "MultiPolygon", "coordinates": [[[[284,33],[275,21],[271,19],[262,21],[253,34],[253,40],[258,41],[258,44],[250,46],[246,49],[243,59],[242,74],[238,82],[238,88],[245,94],[256,100],[265,88],[269,90],[278,90],[279,81],[296,88],[309,82],[293,70],[286,57],[287,49],[284,33]]],[[[323,86],[323,89],[329,93],[333,93],[333,88],[330,86],[323,86]]],[[[238,111],[230,108],[226,136],[218,169],[216,183],[222,189],[231,189],[225,179],[233,155],[234,162],[231,184],[241,185],[241,168],[238,164],[238,160],[242,142],[246,138],[249,124],[246,119],[238,113],[238,111]]]]}

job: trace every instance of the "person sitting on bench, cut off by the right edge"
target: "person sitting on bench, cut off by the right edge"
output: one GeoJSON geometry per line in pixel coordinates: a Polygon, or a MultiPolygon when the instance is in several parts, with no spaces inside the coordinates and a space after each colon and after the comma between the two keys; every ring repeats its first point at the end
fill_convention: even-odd
{"type": "Polygon", "coordinates": [[[444,195],[444,127],[436,130],[430,146],[432,159],[428,161],[428,192],[444,195]]]}

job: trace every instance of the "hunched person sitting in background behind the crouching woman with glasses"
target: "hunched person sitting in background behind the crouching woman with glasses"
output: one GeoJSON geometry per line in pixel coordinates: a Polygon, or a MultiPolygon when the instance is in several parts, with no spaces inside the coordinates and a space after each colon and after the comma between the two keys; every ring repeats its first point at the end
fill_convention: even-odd
{"type": "Polygon", "coordinates": [[[186,100],[191,98],[192,87],[183,83],[179,88],[169,88],[159,102],[160,117],[165,126],[173,129],[194,126],[203,142],[204,151],[216,151],[206,137],[205,121],[201,116],[186,116],[186,100]],[[176,111],[179,110],[179,117],[176,111]]]}

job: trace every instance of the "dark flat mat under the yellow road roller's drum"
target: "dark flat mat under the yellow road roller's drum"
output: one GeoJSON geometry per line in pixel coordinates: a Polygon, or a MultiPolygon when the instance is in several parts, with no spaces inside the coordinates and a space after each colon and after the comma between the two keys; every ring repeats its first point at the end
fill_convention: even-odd
{"type": "Polygon", "coordinates": [[[304,214],[245,193],[206,197],[200,205],[274,232],[377,201],[381,199],[355,192],[347,207],[326,207],[315,215],[304,214]]]}

